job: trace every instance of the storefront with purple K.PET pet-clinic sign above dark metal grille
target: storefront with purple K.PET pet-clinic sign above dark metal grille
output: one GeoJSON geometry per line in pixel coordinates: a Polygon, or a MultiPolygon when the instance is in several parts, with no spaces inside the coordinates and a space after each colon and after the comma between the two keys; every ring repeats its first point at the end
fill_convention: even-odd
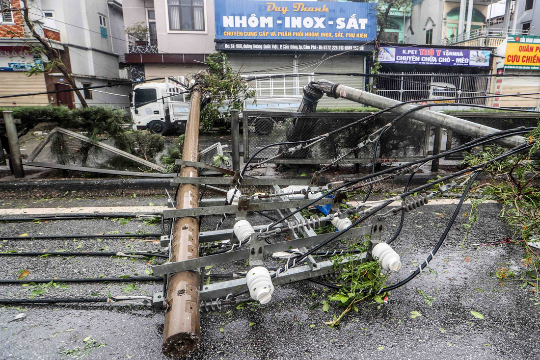
{"type": "MultiPolygon", "coordinates": [[[[379,61],[377,92],[396,100],[467,98],[490,89],[490,77],[483,75],[489,75],[492,58],[485,47],[384,45],[379,61]]],[[[485,105],[487,99],[458,102],[485,105]]]]}

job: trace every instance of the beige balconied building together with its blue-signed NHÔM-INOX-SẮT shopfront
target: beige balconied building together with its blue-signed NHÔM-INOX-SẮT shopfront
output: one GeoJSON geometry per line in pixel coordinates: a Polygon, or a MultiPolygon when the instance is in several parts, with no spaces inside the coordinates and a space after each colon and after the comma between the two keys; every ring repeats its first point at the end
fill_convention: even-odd
{"type": "MultiPolygon", "coordinates": [[[[312,72],[329,73],[323,78],[363,89],[365,78],[336,73],[366,71],[367,55],[375,49],[375,12],[367,10],[373,7],[353,2],[125,0],[125,59],[134,79],[186,76],[204,70],[205,57],[219,50],[235,71],[254,77],[284,74],[271,83],[253,81],[259,84],[259,96],[301,96],[312,72]],[[146,33],[137,35],[141,23],[146,33]],[[286,77],[292,73],[306,76],[286,77]]],[[[323,98],[319,106],[360,105],[323,98]]]]}

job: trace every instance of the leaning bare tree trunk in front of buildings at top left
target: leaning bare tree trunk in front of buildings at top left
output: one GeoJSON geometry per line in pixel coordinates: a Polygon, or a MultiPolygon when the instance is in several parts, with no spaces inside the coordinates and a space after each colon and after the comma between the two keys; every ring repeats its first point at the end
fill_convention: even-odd
{"type": "MultiPolygon", "coordinates": [[[[8,0],[8,3],[9,3],[9,0],[8,0]]],[[[39,33],[36,31],[36,24],[30,19],[30,10],[28,7],[28,0],[22,0],[22,3],[23,3],[22,8],[21,7],[18,7],[18,8],[17,7],[12,7],[12,8],[3,7],[2,12],[17,11],[21,14],[24,20],[24,23],[30,30],[32,37],[35,38],[39,42],[40,46],[36,46],[35,44],[29,43],[25,38],[22,38],[22,40],[31,47],[32,51],[41,53],[49,59],[48,69],[52,69],[52,67],[57,67],[58,70],[60,70],[60,72],[64,74],[66,79],[68,79],[68,83],[71,85],[73,91],[79,98],[80,105],[82,107],[88,107],[88,104],[86,104],[86,100],[84,99],[83,94],[80,93],[80,91],[77,89],[77,83],[75,82],[75,79],[73,78],[73,76],[71,76],[70,71],[62,62],[60,52],[52,46],[50,39],[39,35],[39,33]]],[[[15,35],[13,32],[11,33],[12,33],[12,36],[15,35]]],[[[35,69],[34,69],[34,72],[35,72],[35,69]]]]}

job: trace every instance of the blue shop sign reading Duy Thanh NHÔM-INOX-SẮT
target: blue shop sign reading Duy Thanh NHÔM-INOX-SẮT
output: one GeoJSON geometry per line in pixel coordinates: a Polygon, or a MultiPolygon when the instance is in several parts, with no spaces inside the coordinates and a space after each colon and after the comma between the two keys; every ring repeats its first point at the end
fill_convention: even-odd
{"type": "Polygon", "coordinates": [[[215,0],[215,38],[237,40],[375,39],[374,3],[215,0]]]}

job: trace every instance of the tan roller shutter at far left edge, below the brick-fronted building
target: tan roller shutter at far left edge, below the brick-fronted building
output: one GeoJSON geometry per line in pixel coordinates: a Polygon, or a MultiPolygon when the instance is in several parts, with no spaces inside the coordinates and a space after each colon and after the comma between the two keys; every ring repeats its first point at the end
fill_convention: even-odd
{"type": "MultiPolygon", "coordinates": [[[[47,91],[44,74],[26,76],[24,72],[0,71],[0,96],[47,91]]],[[[0,106],[49,104],[47,94],[0,99],[0,106]]]]}

